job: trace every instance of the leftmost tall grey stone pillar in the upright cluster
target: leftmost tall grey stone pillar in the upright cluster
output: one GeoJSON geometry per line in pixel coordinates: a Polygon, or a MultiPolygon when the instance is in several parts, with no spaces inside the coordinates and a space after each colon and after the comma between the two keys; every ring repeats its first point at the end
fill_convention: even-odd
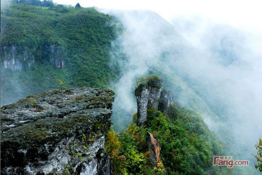
{"type": "Polygon", "coordinates": [[[148,85],[140,84],[135,89],[135,96],[137,98],[137,125],[141,126],[146,121],[147,117],[147,103],[148,95],[151,88],[148,85]]]}

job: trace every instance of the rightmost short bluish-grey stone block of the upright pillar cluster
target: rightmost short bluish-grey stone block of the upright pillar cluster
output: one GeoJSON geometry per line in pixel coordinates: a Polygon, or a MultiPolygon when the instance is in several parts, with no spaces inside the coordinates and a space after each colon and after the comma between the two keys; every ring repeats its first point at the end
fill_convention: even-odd
{"type": "Polygon", "coordinates": [[[167,115],[168,107],[173,103],[173,92],[170,90],[163,90],[159,99],[158,110],[167,115]]]}

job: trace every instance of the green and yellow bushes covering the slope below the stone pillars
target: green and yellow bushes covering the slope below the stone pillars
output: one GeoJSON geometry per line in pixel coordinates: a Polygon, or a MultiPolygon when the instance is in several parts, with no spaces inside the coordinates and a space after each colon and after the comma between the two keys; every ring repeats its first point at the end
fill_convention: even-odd
{"type": "MultiPolygon", "coordinates": [[[[133,118],[136,118],[136,115],[133,118]]],[[[167,116],[156,108],[148,108],[147,118],[144,126],[138,127],[132,123],[126,132],[118,134],[121,146],[116,149],[118,157],[111,161],[124,156],[125,162],[121,166],[125,167],[128,174],[232,173],[225,167],[212,165],[213,156],[223,155],[224,150],[215,133],[209,131],[199,113],[172,104],[167,116]],[[159,163],[154,168],[149,158],[151,153],[148,152],[146,145],[147,131],[153,134],[161,147],[162,164],[159,163]]],[[[112,138],[116,140],[115,136],[112,138]]]]}

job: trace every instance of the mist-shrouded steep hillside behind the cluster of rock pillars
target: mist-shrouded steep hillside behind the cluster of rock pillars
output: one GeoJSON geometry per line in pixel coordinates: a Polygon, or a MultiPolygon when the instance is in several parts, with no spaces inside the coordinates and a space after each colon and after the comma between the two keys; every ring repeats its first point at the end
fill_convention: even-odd
{"type": "MultiPolygon", "coordinates": [[[[243,64],[226,67],[208,50],[194,47],[186,41],[154,12],[104,12],[116,16],[125,28],[113,45],[115,54],[112,62],[122,67],[121,77],[114,85],[116,99],[112,120],[117,123],[116,130],[124,130],[132,122],[128,116],[136,112],[135,98],[131,95],[135,80],[145,74],[159,74],[166,82],[165,86],[174,91],[174,99],[179,104],[201,112],[210,129],[219,133],[228,154],[254,160],[252,153],[255,154],[255,149],[251,143],[256,143],[261,137],[259,59],[253,59],[253,55],[246,52],[248,55],[242,56],[249,63],[247,67],[243,64]],[[242,129],[248,132],[242,133],[242,129]]],[[[224,49],[233,49],[230,45],[223,45],[222,36],[220,34],[221,41],[213,41],[215,36],[210,40],[221,42],[224,49]]],[[[233,44],[233,41],[234,37],[226,39],[226,43],[233,44]]],[[[243,43],[243,46],[246,45],[243,43]]],[[[219,47],[217,45],[217,50],[219,47]]],[[[220,56],[224,57],[223,53],[220,56]]],[[[245,174],[247,171],[241,169],[238,173],[245,174]]]]}

